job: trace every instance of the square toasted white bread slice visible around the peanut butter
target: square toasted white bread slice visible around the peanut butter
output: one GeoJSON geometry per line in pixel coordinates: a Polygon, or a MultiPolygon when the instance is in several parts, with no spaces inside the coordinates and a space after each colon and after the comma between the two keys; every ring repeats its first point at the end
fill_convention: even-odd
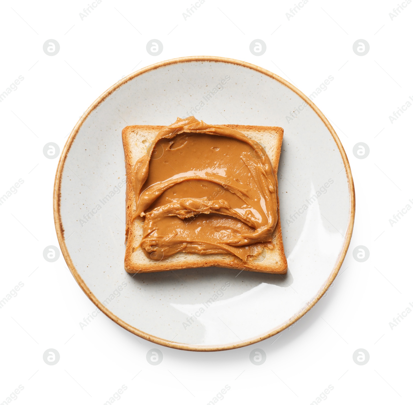
{"type": "Polygon", "coordinates": [[[251,257],[247,263],[233,254],[196,254],[178,252],[160,260],[148,258],[139,246],[143,235],[142,219],[133,219],[136,210],[135,193],[132,186],[133,168],[136,161],[147,153],[148,148],[163,126],[131,125],[123,128],[122,139],[126,166],[126,252],[125,269],[128,273],[149,273],[176,270],[180,268],[218,266],[246,271],[285,274],[287,259],[284,254],[280,224],[280,203],[278,198],[278,162],[280,160],[283,129],[252,125],[223,125],[238,130],[264,147],[273,167],[278,220],[273,234],[273,249],[265,247],[258,257],[251,257]],[[138,247],[138,248],[136,248],[138,247]]]}

